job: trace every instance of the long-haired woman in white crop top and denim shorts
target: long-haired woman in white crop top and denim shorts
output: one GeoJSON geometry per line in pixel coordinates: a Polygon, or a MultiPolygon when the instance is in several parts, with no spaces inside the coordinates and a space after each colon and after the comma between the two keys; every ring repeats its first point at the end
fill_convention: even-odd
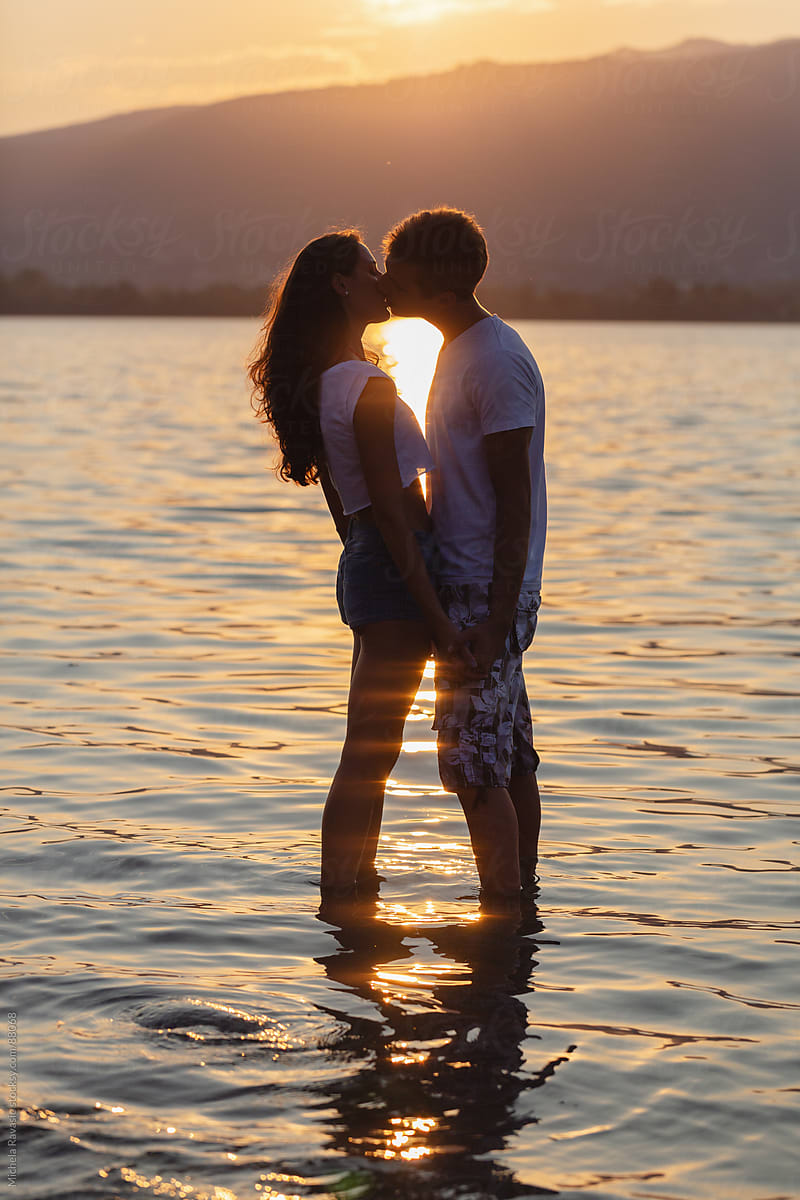
{"type": "Polygon", "coordinates": [[[431,643],[440,655],[467,653],[456,650],[431,581],[435,546],[419,476],[433,462],[361,343],[368,324],[389,317],[379,282],[357,232],[317,238],[278,288],[249,362],[281,476],[321,484],[344,542],[336,590],[354,649],[347,736],[323,815],[327,895],[375,889],[384,786],[431,643]]]}

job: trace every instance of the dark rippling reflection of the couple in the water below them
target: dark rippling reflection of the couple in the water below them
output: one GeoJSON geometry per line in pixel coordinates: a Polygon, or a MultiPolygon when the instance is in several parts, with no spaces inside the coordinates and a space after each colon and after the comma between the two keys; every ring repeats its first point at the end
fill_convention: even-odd
{"type": "Polygon", "coordinates": [[[536,1121],[531,1091],[575,1049],[524,1062],[523,1042],[533,1054],[537,1045],[519,998],[534,990],[535,906],[525,905],[522,926],[505,914],[415,928],[378,919],[374,900],[342,908],[348,916],[330,931],[337,944],[317,959],[336,985],[321,1006],[336,1021],[325,1046],[339,1064],[319,1085],[320,1106],[333,1108],[330,1147],[384,1164],[371,1200],[456,1196],[462,1187],[529,1195],[498,1154],[536,1121]],[[420,964],[410,938],[429,943],[432,962],[420,964]],[[393,1169],[409,1163],[422,1174],[393,1169]]]}

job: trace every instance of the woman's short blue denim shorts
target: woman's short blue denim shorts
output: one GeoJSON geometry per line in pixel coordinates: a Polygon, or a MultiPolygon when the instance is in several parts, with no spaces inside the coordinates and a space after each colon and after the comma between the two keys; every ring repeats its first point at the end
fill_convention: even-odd
{"type": "MultiPolygon", "coordinates": [[[[439,558],[435,535],[432,530],[415,529],[414,536],[435,587],[439,558]]],[[[350,521],[348,527],[336,577],[336,599],[342,620],[350,629],[378,620],[425,622],[379,529],[363,521],[350,521]]]]}

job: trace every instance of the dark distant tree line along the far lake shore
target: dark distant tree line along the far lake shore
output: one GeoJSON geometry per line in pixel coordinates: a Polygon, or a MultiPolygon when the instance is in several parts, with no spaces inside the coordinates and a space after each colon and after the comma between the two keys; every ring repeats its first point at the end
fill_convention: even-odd
{"type": "MultiPolygon", "coordinates": [[[[65,284],[28,268],[0,275],[0,313],[17,316],[258,317],[269,284],[209,283],[148,288],[134,283],[65,284]]],[[[511,319],[576,320],[800,320],[800,280],[744,287],[657,277],[603,292],[487,283],[481,301],[511,319]]]]}

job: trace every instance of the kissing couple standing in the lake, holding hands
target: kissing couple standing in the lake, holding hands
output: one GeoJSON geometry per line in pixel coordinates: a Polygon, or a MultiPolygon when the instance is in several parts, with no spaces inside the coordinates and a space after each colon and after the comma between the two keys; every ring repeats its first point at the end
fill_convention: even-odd
{"type": "Polygon", "coordinates": [[[518,898],[535,878],[540,826],[522,654],[545,551],[545,390],[522,338],[475,296],[488,253],[471,216],[417,212],[384,252],[381,275],[357,232],[309,242],[249,362],[281,476],[321,484],[344,544],[336,590],[354,652],[321,890],[377,890],[384,786],[433,649],[441,784],[464,810],[482,898],[518,898]],[[365,328],[389,308],[444,335],[427,443],[365,355],[365,328]]]}

